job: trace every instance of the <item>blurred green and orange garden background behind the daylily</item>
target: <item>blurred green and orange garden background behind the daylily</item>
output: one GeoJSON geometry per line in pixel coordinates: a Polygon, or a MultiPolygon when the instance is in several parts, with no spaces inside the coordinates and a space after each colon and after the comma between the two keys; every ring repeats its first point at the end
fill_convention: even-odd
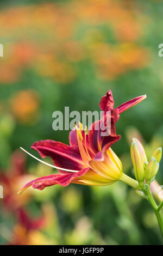
{"type": "MultiPolygon", "coordinates": [[[[54,169],[23,154],[42,139],[68,143],[53,131],[52,113],[94,111],[108,89],[115,106],[147,99],[121,115],[113,149],[134,177],[130,139],[148,157],[163,145],[162,1],[62,0],[0,2],[0,243],[11,245],[160,245],[147,200],[115,182],[108,187],[22,184],[54,169]]],[[[46,161],[51,162],[46,159],[46,161]]],[[[157,175],[163,184],[163,164],[157,175]]]]}

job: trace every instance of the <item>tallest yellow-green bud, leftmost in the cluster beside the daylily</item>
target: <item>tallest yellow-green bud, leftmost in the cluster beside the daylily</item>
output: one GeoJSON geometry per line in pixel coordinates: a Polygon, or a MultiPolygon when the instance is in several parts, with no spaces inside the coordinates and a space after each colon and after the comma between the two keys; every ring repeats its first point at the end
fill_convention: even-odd
{"type": "Polygon", "coordinates": [[[140,150],[137,142],[131,143],[131,160],[133,162],[136,180],[142,187],[145,180],[144,157],[142,156],[142,150],[140,150]]]}

